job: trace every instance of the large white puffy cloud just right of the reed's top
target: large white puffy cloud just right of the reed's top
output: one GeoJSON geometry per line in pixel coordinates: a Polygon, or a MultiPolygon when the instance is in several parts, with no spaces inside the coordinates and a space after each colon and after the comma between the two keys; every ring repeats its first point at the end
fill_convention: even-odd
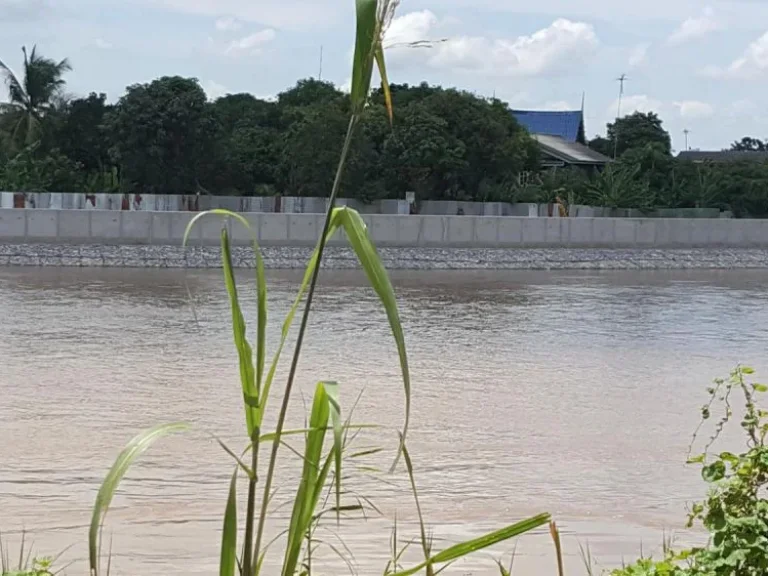
{"type": "Polygon", "coordinates": [[[459,36],[428,48],[403,43],[434,41],[437,17],[430,11],[396,18],[387,35],[393,59],[424,63],[433,68],[463,70],[492,76],[540,76],[568,70],[583,62],[598,45],[590,24],[559,19],[530,36],[487,38],[459,36]]]}

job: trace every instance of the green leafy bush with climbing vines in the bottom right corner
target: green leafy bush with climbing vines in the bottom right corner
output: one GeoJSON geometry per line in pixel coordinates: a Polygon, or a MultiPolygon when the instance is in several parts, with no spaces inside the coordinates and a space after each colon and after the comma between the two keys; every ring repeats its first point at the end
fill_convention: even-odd
{"type": "MultiPolygon", "coordinates": [[[[662,562],[643,559],[614,576],[764,576],[768,574],[768,411],[759,396],[768,386],[749,381],[751,368],[738,367],[725,379],[708,388],[709,401],[702,407],[702,423],[714,420],[704,451],[689,459],[701,466],[702,479],[710,485],[707,498],[690,510],[688,526],[700,523],[710,534],[702,548],[668,552],[662,562]],[[744,400],[741,429],[746,437],[739,454],[713,451],[714,445],[734,417],[736,396],[744,400]],[[717,416],[716,416],[717,414],[717,416]]],[[[693,444],[692,444],[693,446],[693,444]]]]}

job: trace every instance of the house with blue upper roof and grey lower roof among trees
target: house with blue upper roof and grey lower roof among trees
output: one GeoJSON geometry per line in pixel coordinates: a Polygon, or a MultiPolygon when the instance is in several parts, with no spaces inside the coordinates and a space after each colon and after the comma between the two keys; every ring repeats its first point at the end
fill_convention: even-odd
{"type": "Polygon", "coordinates": [[[600,169],[611,161],[587,147],[584,111],[512,110],[512,115],[538,142],[545,168],[582,166],[600,169]]]}

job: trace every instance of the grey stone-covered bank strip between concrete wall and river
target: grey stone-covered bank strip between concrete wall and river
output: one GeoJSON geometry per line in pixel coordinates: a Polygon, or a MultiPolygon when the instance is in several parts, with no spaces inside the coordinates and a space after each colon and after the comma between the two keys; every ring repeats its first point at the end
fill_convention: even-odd
{"type": "MultiPolygon", "coordinates": [[[[270,269],[304,268],[311,249],[264,247],[270,269]]],[[[768,269],[768,250],[745,249],[587,249],[587,248],[380,248],[391,270],[694,270],[768,269]]],[[[71,244],[0,245],[0,266],[73,266],[127,268],[218,268],[215,247],[114,246],[71,244]]],[[[253,268],[250,248],[232,253],[238,268],[253,268]]],[[[328,247],[324,265],[357,267],[349,248],[328,247]]]]}

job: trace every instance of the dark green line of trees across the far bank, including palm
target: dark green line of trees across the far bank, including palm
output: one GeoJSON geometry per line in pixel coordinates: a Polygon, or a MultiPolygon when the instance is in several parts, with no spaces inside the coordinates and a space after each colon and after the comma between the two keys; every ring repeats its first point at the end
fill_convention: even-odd
{"type": "MultiPolygon", "coordinates": [[[[347,126],[349,97],[316,79],[266,101],[210,101],[197,80],[135,84],[115,103],[65,96],[67,60],[23,50],[14,75],[0,61],[0,189],[325,196],[347,126]]],[[[560,201],[614,208],[710,207],[768,214],[764,163],[693,164],[672,155],[653,113],[608,124],[589,142],[616,156],[602,171],[541,170],[540,151],[508,106],[453,89],[392,85],[390,124],[376,92],[344,174],[342,195],[373,201],[560,201]]],[[[734,150],[765,151],[754,138],[734,150]]]]}

